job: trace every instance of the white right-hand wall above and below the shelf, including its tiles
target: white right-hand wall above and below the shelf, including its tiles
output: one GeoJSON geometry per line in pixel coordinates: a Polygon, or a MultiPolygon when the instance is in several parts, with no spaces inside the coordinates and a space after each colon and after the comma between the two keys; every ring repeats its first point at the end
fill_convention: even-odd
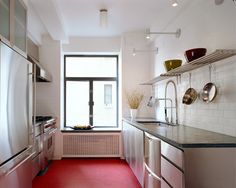
{"type": "MultiPolygon", "coordinates": [[[[181,3],[181,2],[180,2],[181,3]]],[[[196,0],[184,10],[175,21],[166,27],[166,31],[182,29],[179,39],[173,36],[159,36],[154,46],[159,54],[154,56],[154,75],[165,72],[163,62],[180,58],[185,62],[184,51],[195,47],[205,47],[210,53],[215,49],[236,49],[236,3],[224,1],[216,6],[214,1],[196,0]]],[[[188,73],[181,77],[178,84],[180,123],[206,130],[236,136],[236,57],[213,64],[212,82],[218,87],[214,102],[203,103],[200,99],[190,105],[182,104],[182,96],[189,87],[188,73]]],[[[175,80],[175,79],[174,79],[175,80]]],[[[192,87],[198,92],[209,82],[208,66],[192,71],[192,87]]],[[[157,83],[156,96],[164,96],[166,81],[157,83]]],[[[173,89],[168,90],[173,98],[173,89]]],[[[156,108],[156,117],[164,120],[164,103],[160,101],[156,108]]]]}

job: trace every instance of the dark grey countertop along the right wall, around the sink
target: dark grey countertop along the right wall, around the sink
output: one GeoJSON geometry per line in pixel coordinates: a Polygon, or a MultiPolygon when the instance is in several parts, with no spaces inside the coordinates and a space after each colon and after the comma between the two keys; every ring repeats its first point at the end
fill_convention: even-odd
{"type": "MultiPolygon", "coordinates": [[[[155,119],[138,119],[154,121],[155,119]]],[[[123,118],[134,127],[148,132],[178,148],[194,147],[236,147],[236,137],[215,133],[184,125],[158,126],[156,123],[138,123],[137,120],[123,118]]]]}

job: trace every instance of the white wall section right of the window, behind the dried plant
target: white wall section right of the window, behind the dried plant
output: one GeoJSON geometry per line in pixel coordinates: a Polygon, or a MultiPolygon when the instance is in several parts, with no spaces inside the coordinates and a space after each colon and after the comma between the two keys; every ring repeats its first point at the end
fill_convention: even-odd
{"type": "Polygon", "coordinates": [[[150,55],[153,52],[137,52],[133,56],[133,48],[138,50],[149,50],[149,43],[145,39],[144,32],[124,33],[122,36],[122,108],[123,117],[130,116],[127,104],[127,93],[134,90],[144,94],[144,99],[138,109],[138,117],[153,117],[153,109],[147,107],[147,101],[151,95],[150,86],[140,85],[151,79],[150,55]]]}

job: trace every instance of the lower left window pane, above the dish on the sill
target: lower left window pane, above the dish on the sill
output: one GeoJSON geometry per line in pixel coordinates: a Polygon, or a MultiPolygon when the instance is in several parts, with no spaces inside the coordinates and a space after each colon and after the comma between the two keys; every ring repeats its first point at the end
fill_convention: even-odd
{"type": "Polygon", "coordinates": [[[89,82],[66,82],[66,126],[89,124],[89,82]]]}

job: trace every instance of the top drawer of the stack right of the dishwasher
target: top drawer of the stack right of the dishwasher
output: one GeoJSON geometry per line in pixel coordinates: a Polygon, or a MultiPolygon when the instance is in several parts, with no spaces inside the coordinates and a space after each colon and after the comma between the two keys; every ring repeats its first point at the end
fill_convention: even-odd
{"type": "Polygon", "coordinates": [[[184,153],[180,149],[161,141],[161,154],[184,170],[184,153]]]}

